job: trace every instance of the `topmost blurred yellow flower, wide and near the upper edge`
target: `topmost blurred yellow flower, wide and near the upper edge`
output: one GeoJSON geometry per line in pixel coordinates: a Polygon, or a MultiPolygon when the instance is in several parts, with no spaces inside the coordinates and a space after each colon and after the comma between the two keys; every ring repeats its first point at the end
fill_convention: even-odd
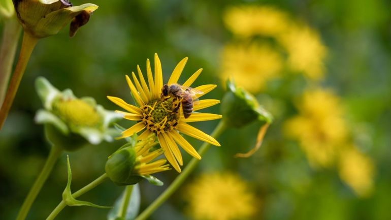
{"type": "Polygon", "coordinates": [[[228,8],[223,16],[228,29],[236,35],[275,36],[289,26],[288,16],[271,6],[239,6],[228,8]]]}

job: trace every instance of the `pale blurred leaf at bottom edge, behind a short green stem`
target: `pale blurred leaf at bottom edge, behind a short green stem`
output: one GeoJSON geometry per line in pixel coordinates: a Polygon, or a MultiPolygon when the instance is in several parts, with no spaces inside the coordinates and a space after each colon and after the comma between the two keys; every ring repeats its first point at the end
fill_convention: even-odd
{"type": "Polygon", "coordinates": [[[139,184],[128,185],[107,215],[108,220],[133,220],[140,210],[139,184]]]}

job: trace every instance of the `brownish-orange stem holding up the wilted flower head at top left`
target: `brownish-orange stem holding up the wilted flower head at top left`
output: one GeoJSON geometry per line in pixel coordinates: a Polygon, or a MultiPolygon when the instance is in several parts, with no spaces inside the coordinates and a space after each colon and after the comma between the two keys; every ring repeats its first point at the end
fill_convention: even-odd
{"type": "Polygon", "coordinates": [[[38,38],[32,37],[26,32],[23,34],[22,46],[20,48],[20,54],[18,58],[18,62],[15,67],[14,74],[12,75],[12,79],[10,85],[8,86],[6,98],[0,109],[0,130],[3,128],[4,121],[7,118],[8,112],[12,106],[14,101],[16,91],[18,90],[20,81],[23,77],[23,73],[26,70],[26,66],[28,60],[30,59],[31,52],[34,47],[37,45],[38,38]]]}

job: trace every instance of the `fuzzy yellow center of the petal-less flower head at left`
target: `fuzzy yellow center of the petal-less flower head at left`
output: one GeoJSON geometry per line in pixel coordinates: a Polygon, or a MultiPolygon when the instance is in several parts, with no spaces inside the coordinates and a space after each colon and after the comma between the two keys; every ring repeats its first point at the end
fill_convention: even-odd
{"type": "Polygon", "coordinates": [[[96,127],[100,116],[96,110],[79,99],[58,100],[53,106],[58,116],[71,127],[96,127]]]}

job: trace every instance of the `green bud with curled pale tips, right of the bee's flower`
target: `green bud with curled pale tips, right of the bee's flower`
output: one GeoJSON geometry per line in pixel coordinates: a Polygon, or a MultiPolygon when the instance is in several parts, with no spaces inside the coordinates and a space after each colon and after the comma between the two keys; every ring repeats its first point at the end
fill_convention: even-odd
{"type": "Polygon", "coordinates": [[[221,112],[225,123],[240,128],[252,121],[271,123],[273,116],[258,104],[255,97],[232,80],[226,82],[228,91],[221,100],[221,112]]]}

